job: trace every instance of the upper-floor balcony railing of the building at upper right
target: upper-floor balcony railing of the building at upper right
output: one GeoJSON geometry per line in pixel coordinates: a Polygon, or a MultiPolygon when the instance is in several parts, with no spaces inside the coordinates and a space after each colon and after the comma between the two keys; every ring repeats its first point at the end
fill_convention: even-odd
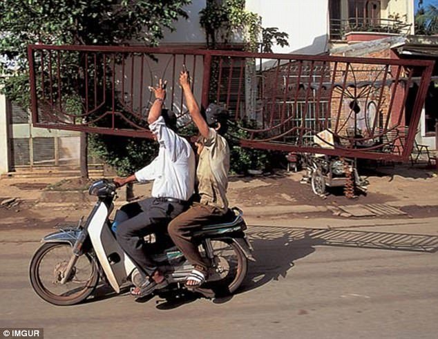
{"type": "Polygon", "coordinates": [[[353,17],[350,19],[330,19],[330,39],[345,40],[349,32],[379,32],[406,35],[410,23],[396,19],[370,19],[353,17]]]}

